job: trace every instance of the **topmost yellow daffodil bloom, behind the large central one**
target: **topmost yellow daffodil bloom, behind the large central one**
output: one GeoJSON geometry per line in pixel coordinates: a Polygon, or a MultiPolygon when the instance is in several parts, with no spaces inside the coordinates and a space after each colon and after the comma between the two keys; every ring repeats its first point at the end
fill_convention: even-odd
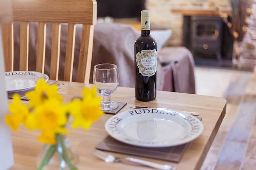
{"type": "Polygon", "coordinates": [[[57,91],[57,85],[48,85],[44,79],[39,79],[36,83],[35,90],[26,93],[26,96],[30,99],[30,107],[35,107],[49,99],[57,100],[61,103],[63,98],[57,93],[57,91]]]}

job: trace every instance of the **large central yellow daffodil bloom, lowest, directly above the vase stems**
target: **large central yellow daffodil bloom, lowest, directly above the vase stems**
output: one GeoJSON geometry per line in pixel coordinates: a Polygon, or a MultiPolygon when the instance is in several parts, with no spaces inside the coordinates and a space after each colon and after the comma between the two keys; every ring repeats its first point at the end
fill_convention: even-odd
{"type": "Polygon", "coordinates": [[[66,134],[64,128],[67,122],[67,108],[61,105],[58,100],[46,100],[43,104],[35,107],[25,122],[30,130],[41,130],[39,141],[46,144],[55,144],[55,134],[66,134]]]}

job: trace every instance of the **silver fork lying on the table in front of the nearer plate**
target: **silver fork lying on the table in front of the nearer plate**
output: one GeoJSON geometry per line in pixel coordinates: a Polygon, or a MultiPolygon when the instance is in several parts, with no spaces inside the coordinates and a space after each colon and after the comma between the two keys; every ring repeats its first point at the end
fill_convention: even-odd
{"type": "Polygon", "coordinates": [[[114,163],[114,162],[136,163],[136,164],[148,166],[148,167],[155,168],[155,169],[176,170],[176,168],[171,165],[158,164],[158,163],[154,163],[154,162],[144,161],[142,159],[130,158],[130,157],[117,158],[113,155],[108,155],[107,153],[104,153],[103,151],[100,151],[97,149],[95,149],[93,151],[93,154],[107,163],[114,163]]]}

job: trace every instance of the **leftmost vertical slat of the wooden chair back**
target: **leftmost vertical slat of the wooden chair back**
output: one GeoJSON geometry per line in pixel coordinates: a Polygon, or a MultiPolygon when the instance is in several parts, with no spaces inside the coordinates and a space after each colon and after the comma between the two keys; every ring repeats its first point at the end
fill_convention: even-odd
{"type": "Polygon", "coordinates": [[[2,34],[5,70],[13,71],[13,23],[3,24],[2,34]]]}

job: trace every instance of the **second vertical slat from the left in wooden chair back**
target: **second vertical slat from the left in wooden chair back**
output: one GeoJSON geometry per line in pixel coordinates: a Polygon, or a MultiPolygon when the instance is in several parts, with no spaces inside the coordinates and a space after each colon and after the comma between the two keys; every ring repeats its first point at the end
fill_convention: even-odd
{"type": "Polygon", "coordinates": [[[20,22],[20,68],[28,70],[28,22],[20,22]]]}

